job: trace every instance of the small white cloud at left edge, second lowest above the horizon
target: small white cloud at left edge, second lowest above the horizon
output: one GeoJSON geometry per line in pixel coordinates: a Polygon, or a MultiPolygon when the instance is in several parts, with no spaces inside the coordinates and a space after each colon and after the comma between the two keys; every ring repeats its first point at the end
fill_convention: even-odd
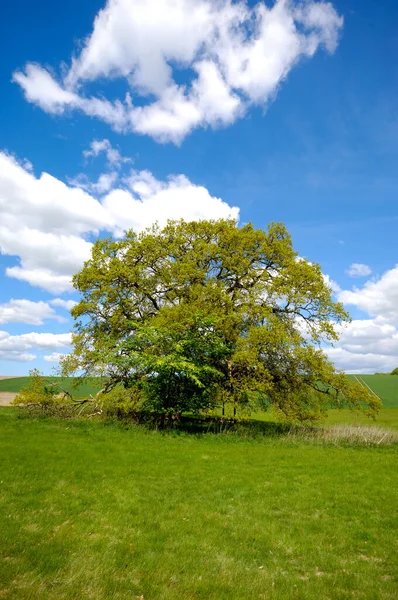
{"type": "Polygon", "coordinates": [[[55,310],[47,302],[40,300],[32,302],[31,300],[14,300],[0,304],[0,324],[4,323],[26,323],[29,325],[43,325],[46,319],[55,319],[59,322],[65,322],[63,317],[59,317],[55,310]]]}

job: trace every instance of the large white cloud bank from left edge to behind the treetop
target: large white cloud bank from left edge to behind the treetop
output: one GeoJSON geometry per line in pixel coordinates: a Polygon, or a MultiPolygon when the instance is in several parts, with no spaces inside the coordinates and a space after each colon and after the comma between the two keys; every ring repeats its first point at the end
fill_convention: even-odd
{"type": "MultiPolygon", "coordinates": [[[[108,148],[109,149],[109,148],[108,148]]],[[[115,183],[116,185],[116,183],[115,183]]],[[[105,191],[105,190],[102,190],[105,191]]],[[[71,277],[90,257],[90,236],[122,235],[157,220],[238,218],[239,210],[211,196],[183,175],[158,181],[132,171],[101,201],[47,173],[39,178],[0,153],[0,251],[19,257],[6,275],[53,294],[71,291],[71,277]]]]}

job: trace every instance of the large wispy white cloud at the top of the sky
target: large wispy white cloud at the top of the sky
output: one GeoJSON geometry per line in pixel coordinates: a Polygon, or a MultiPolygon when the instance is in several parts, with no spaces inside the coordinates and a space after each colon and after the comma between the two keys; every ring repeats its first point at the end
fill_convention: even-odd
{"type": "Polygon", "coordinates": [[[335,50],[342,25],[329,2],[314,0],[108,0],[60,81],[33,63],[14,81],[49,113],[78,109],[117,131],[179,143],[196,127],[266,106],[301,58],[335,50]],[[190,70],[185,84],[177,69],[190,70]],[[84,95],[86,83],[116,78],[127,84],[125,98],[84,95]]]}

